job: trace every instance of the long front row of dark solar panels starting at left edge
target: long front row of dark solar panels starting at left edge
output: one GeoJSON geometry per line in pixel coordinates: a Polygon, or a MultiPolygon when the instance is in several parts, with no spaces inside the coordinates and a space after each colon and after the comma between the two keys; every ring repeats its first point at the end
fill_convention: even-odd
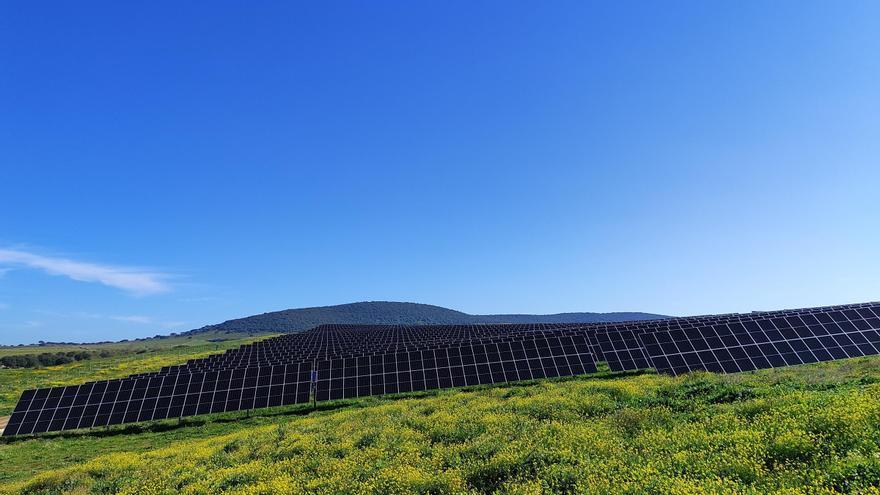
{"type": "Polygon", "coordinates": [[[155,375],[29,390],[4,435],[182,418],[316,400],[503,383],[596,371],[569,338],[377,354],[334,361],[155,375]],[[312,371],[315,370],[314,376],[312,371]]]}

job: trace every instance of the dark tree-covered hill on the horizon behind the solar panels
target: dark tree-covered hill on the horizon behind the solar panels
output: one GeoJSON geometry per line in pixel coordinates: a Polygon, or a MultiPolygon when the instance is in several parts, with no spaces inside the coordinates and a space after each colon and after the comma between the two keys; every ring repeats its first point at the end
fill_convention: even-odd
{"type": "Polygon", "coordinates": [[[553,315],[471,315],[452,309],[406,302],[356,302],[338,306],[286,309],[208,325],[187,333],[301,332],[325,323],[365,325],[455,325],[472,323],[596,323],[666,318],[650,313],[560,313],[553,315]]]}

